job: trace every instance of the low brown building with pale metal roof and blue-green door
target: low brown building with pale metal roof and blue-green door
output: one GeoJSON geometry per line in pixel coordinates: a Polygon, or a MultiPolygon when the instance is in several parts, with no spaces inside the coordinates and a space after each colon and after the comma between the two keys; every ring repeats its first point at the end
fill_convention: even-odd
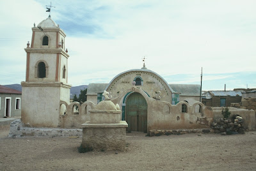
{"type": "Polygon", "coordinates": [[[207,107],[230,107],[231,103],[240,103],[241,91],[203,91],[202,103],[207,107]]]}

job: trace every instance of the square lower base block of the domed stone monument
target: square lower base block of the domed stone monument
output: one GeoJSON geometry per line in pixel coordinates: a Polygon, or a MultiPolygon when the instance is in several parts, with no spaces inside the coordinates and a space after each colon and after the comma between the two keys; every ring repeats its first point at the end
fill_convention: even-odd
{"type": "Polygon", "coordinates": [[[125,135],[128,124],[126,121],[119,123],[95,124],[90,121],[82,124],[82,146],[92,147],[93,150],[118,150],[125,151],[125,135]]]}

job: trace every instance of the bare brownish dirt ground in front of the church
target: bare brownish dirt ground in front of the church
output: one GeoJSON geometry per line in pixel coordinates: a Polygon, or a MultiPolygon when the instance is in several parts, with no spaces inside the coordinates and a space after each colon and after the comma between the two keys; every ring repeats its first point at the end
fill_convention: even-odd
{"type": "Polygon", "coordinates": [[[7,137],[0,131],[0,170],[256,170],[256,131],[145,137],[127,133],[120,151],[79,153],[79,138],[7,137]]]}

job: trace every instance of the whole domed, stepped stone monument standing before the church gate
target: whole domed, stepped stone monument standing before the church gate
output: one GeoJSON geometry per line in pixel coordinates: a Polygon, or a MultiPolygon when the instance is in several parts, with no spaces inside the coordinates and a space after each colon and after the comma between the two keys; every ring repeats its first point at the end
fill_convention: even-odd
{"type": "Polygon", "coordinates": [[[122,111],[109,98],[110,94],[104,91],[104,101],[90,110],[91,120],[82,124],[82,146],[94,150],[125,151],[125,135],[128,124],[121,121],[122,111]]]}

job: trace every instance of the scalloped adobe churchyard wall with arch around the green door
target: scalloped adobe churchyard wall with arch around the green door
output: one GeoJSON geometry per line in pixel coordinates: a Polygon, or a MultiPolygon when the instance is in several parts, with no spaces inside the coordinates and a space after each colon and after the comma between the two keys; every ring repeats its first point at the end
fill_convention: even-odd
{"type": "MultiPolygon", "coordinates": [[[[118,98],[114,98],[113,103],[119,104],[122,107],[123,97],[128,92],[140,93],[147,101],[147,131],[150,130],[189,130],[210,128],[214,119],[223,117],[221,107],[205,107],[203,103],[196,102],[188,104],[185,101],[180,101],[177,105],[172,105],[167,101],[156,100],[149,98],[141,89],[127,89],[120,94],[118,98]],[[182,104],[186,105],[188,111],[182,113],[182,104]],[[200,107],[200,112],[197,108],[200,107]]],[[[61,128],[81,128],[81,124],[90,121],[89,109],[95,109],[95,103],[86,101],[82,105],[78,102],[72,102],[67,105],[63,101],[61,105],[67,107],[66,114],[62,112],[59,118],[59,127],[61,128]],[[74,105],[79,107],[79,113],[74,113],[74,105]]],[[[62,110],[64,111],[64,110],[62,110]]],[[[255,130],[255,112],[253,110],[243,110],[230,108],[231,114],[241,115],[244,119],[244,124],[248,130],[255,130]]]]}

